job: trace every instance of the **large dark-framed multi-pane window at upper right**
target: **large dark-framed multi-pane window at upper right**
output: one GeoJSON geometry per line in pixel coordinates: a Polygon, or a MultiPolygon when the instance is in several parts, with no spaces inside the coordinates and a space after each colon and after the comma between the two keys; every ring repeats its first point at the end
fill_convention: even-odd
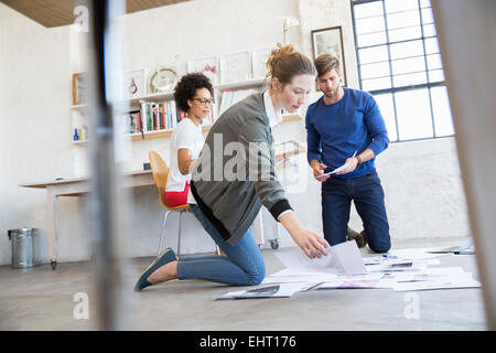
{"type": "Polygon", "coordinates": [[[360,88],[374,95],[389,140],[454,135],[430,0],[352,0],[360,88]]]}

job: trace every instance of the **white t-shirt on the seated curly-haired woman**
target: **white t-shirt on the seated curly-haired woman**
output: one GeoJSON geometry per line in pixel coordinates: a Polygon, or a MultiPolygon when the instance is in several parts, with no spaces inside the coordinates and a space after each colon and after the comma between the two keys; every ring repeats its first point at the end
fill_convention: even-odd
{"type": "Polygon", "coordinates": [[[205,138],[202,127],[196,126],[191,119],[184,118],[172,132],[171,137],[171,159],[170,171],[165,191],[184,191],[186,181],[191,181],[191,174],[183,175],[177,164],[177,150],[185,148],[191,151],[191,158],[197,159],[202,151],[205,138]]]}

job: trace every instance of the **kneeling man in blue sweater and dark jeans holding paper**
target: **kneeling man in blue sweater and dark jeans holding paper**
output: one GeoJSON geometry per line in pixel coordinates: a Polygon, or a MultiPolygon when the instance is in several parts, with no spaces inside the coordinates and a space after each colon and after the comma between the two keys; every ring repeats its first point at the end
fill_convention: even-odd
{"type": "Polygon", "coordinates": [[[360,236],[371,250],[387,253],[389,224],[374,163],[389,143],[379,107],[370,94],[341,86],[342,72],[334,56],[320,55],[315,67],[324,95],[306,111],[308,160],[322,182],[324,237],[331,245],[346,240],[353,200],[364,225],[360,236]],[[343,164],[348,165],[341,172],[322,175],[343,164]]]}

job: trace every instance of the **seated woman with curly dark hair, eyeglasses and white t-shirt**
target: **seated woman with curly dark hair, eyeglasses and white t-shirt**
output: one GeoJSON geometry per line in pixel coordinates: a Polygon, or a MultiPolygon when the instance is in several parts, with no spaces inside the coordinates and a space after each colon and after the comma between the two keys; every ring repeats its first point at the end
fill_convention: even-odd
{"type": "Polygon", "coordinates": [[[170,207],[187,203],[191,171],[205,143],[202,121],[212,111],[213,93],[209,79],[198,73],[184,75],[175,86],[174,100],[185,118],[171,136],[171,165],[165,185],[165,202],[170,207]]]}

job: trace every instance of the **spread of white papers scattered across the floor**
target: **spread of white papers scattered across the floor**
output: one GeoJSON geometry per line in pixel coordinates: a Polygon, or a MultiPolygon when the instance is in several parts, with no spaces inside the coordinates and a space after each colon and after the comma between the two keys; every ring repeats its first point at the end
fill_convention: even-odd
{"type": "MultiPolygon", "coordinates": [[[[429,248],[430,249],[430,248],[429,248]]],[[[233,291],[216,299],[289,298],[299,291],[392,289],[395,291],[478,288],[472,272],[440,265],[423,249],[391,250],[362,258],[355,242],[330,248],[330,255],[310,259],[302,252],[274,253],[287,268],[268,276],[259,287],[233,291]]]]}

